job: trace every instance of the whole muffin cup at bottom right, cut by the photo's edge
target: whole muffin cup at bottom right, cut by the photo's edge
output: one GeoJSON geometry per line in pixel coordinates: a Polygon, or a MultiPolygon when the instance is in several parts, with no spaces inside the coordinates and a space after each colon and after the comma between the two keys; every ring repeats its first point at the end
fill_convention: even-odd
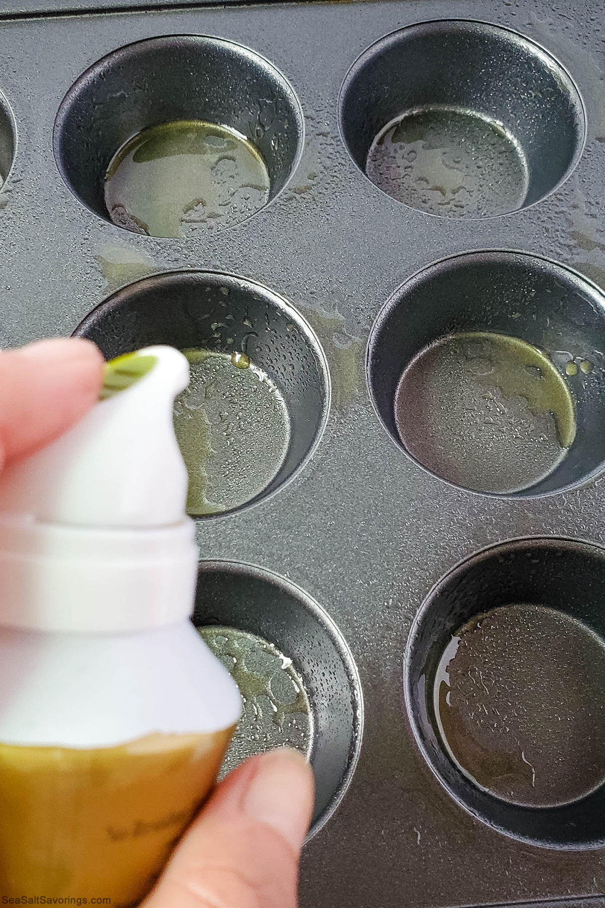
{"type": "Polygon", "coordinates": [[[605,844],[605,549],[487,548],[415,618],[405,701],[417,745],[469,813],[532,844],[605,844]]]}

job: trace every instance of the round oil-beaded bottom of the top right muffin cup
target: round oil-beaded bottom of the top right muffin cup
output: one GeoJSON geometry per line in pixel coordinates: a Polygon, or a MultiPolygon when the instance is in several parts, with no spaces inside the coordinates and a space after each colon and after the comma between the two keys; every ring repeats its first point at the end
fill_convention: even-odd
{"type": "Polygon", "coordinates": [[[502,123],[458,107],[409,111],[376,135],[372,183],[413,208],[446,217],[493,217],[522,207],[529,168],[502,123]]]}

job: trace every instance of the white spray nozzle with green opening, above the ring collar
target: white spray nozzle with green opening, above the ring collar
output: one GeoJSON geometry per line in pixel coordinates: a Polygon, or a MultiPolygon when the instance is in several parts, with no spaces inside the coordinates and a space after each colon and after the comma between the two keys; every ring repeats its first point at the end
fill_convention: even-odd
{"type": "Polygon", "coordinates": [[[9,467],[0,513],[79,527],[166,527],[182,520],[187,471],[172,428],[189,363],[171,347],[112,360],[102,398],[61,438],[9,467]]]}

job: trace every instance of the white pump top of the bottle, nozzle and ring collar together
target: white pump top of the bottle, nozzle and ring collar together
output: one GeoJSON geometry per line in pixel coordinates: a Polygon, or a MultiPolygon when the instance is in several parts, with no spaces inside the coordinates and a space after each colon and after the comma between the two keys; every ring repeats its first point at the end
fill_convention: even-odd
{"type": "Polygon", "coordinates": [[[198,549],[172,426],[189,364],[161,346],[121,361],[124,390],[0,477],[0,626],[112,633],[190,615],[198,549]]]}

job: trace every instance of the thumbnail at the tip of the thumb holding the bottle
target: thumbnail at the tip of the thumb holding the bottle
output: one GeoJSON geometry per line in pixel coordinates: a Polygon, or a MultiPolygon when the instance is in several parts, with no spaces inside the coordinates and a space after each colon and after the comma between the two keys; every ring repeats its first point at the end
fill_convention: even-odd
{"type": "Polygon", "coordinates": [[[312,805],[313,775],[303,755],[283,749],[258,757],[242,802],[245,814],[271,826],[299,851],[312,805]]]}

